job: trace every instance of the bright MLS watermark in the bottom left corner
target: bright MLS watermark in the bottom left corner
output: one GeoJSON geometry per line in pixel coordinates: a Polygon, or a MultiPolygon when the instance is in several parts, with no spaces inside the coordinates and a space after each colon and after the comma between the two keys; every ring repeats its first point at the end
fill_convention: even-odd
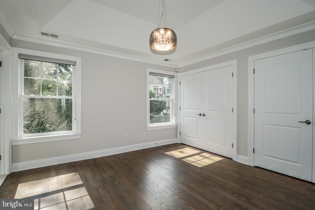
{"type": "Polygon", "coordinates": [[[33,210],[34,199],[0,199],[0,210],[33,210]]]}

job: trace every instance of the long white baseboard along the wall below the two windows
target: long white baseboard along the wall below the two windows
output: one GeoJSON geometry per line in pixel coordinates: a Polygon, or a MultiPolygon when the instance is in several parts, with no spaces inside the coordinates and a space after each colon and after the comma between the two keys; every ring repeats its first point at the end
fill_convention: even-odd
{"type": "Polygon", "coordinates": [[[75,162],[75,161],[80,161],[80,160],[87,160],[87,159],[96,158],[96,157],[103,157],[103,156],[108,156],[108,155],[113,155],[113,154],[124,153],[128,151],[142,150],[142,149],[158,147],[158,146],[174,144],[174,143],[178,143],[177,138],[155,141],[155,142],[148,142],[148,143],[137,144],[137,145],[130,145],[130,146],[125,146],[125,147],[106,149],[106,150],[96,150],[96,151],[84,152],[84,153],[79,153],[79,154],[65,155],[65,156],[46,158],[46,159],[40,159],[40,160],[32,160],[32,161],[26,161],[26,162],[21,162],[21,163],[13,163],[12,172],[24,171],[24,170],[34,169],[34,168],[75,162]]]}

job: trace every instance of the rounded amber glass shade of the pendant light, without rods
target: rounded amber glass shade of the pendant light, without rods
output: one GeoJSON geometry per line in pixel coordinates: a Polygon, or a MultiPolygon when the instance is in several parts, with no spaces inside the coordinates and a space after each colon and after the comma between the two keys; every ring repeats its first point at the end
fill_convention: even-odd
{"type": "Polygon", "coordinates": [[[150,47],[156,51],[169,51],[176,47],[177,36],[174,30],[158,28],[150,34],[150,47]]]}

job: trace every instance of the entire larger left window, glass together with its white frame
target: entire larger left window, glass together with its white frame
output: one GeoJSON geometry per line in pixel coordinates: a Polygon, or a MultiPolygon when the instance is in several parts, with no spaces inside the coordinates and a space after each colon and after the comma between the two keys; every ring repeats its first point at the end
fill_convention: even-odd
{"type": "MultiPolygon", "coordinates": [[[[38,52],[37,52],[38,54],[38,52]]],[[[80,59],[56,54],[18,54],[17,141],[40,142],[80,136],[80,59]]]]}

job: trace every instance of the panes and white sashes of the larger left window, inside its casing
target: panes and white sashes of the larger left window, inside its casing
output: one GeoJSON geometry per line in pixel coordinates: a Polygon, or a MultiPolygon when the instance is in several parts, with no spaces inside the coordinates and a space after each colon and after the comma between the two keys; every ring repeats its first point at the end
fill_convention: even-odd
{"type": "Polygon", "coordinates": [[[20,136],[74,133],[75,66],[21,60],[20,136]]]}

